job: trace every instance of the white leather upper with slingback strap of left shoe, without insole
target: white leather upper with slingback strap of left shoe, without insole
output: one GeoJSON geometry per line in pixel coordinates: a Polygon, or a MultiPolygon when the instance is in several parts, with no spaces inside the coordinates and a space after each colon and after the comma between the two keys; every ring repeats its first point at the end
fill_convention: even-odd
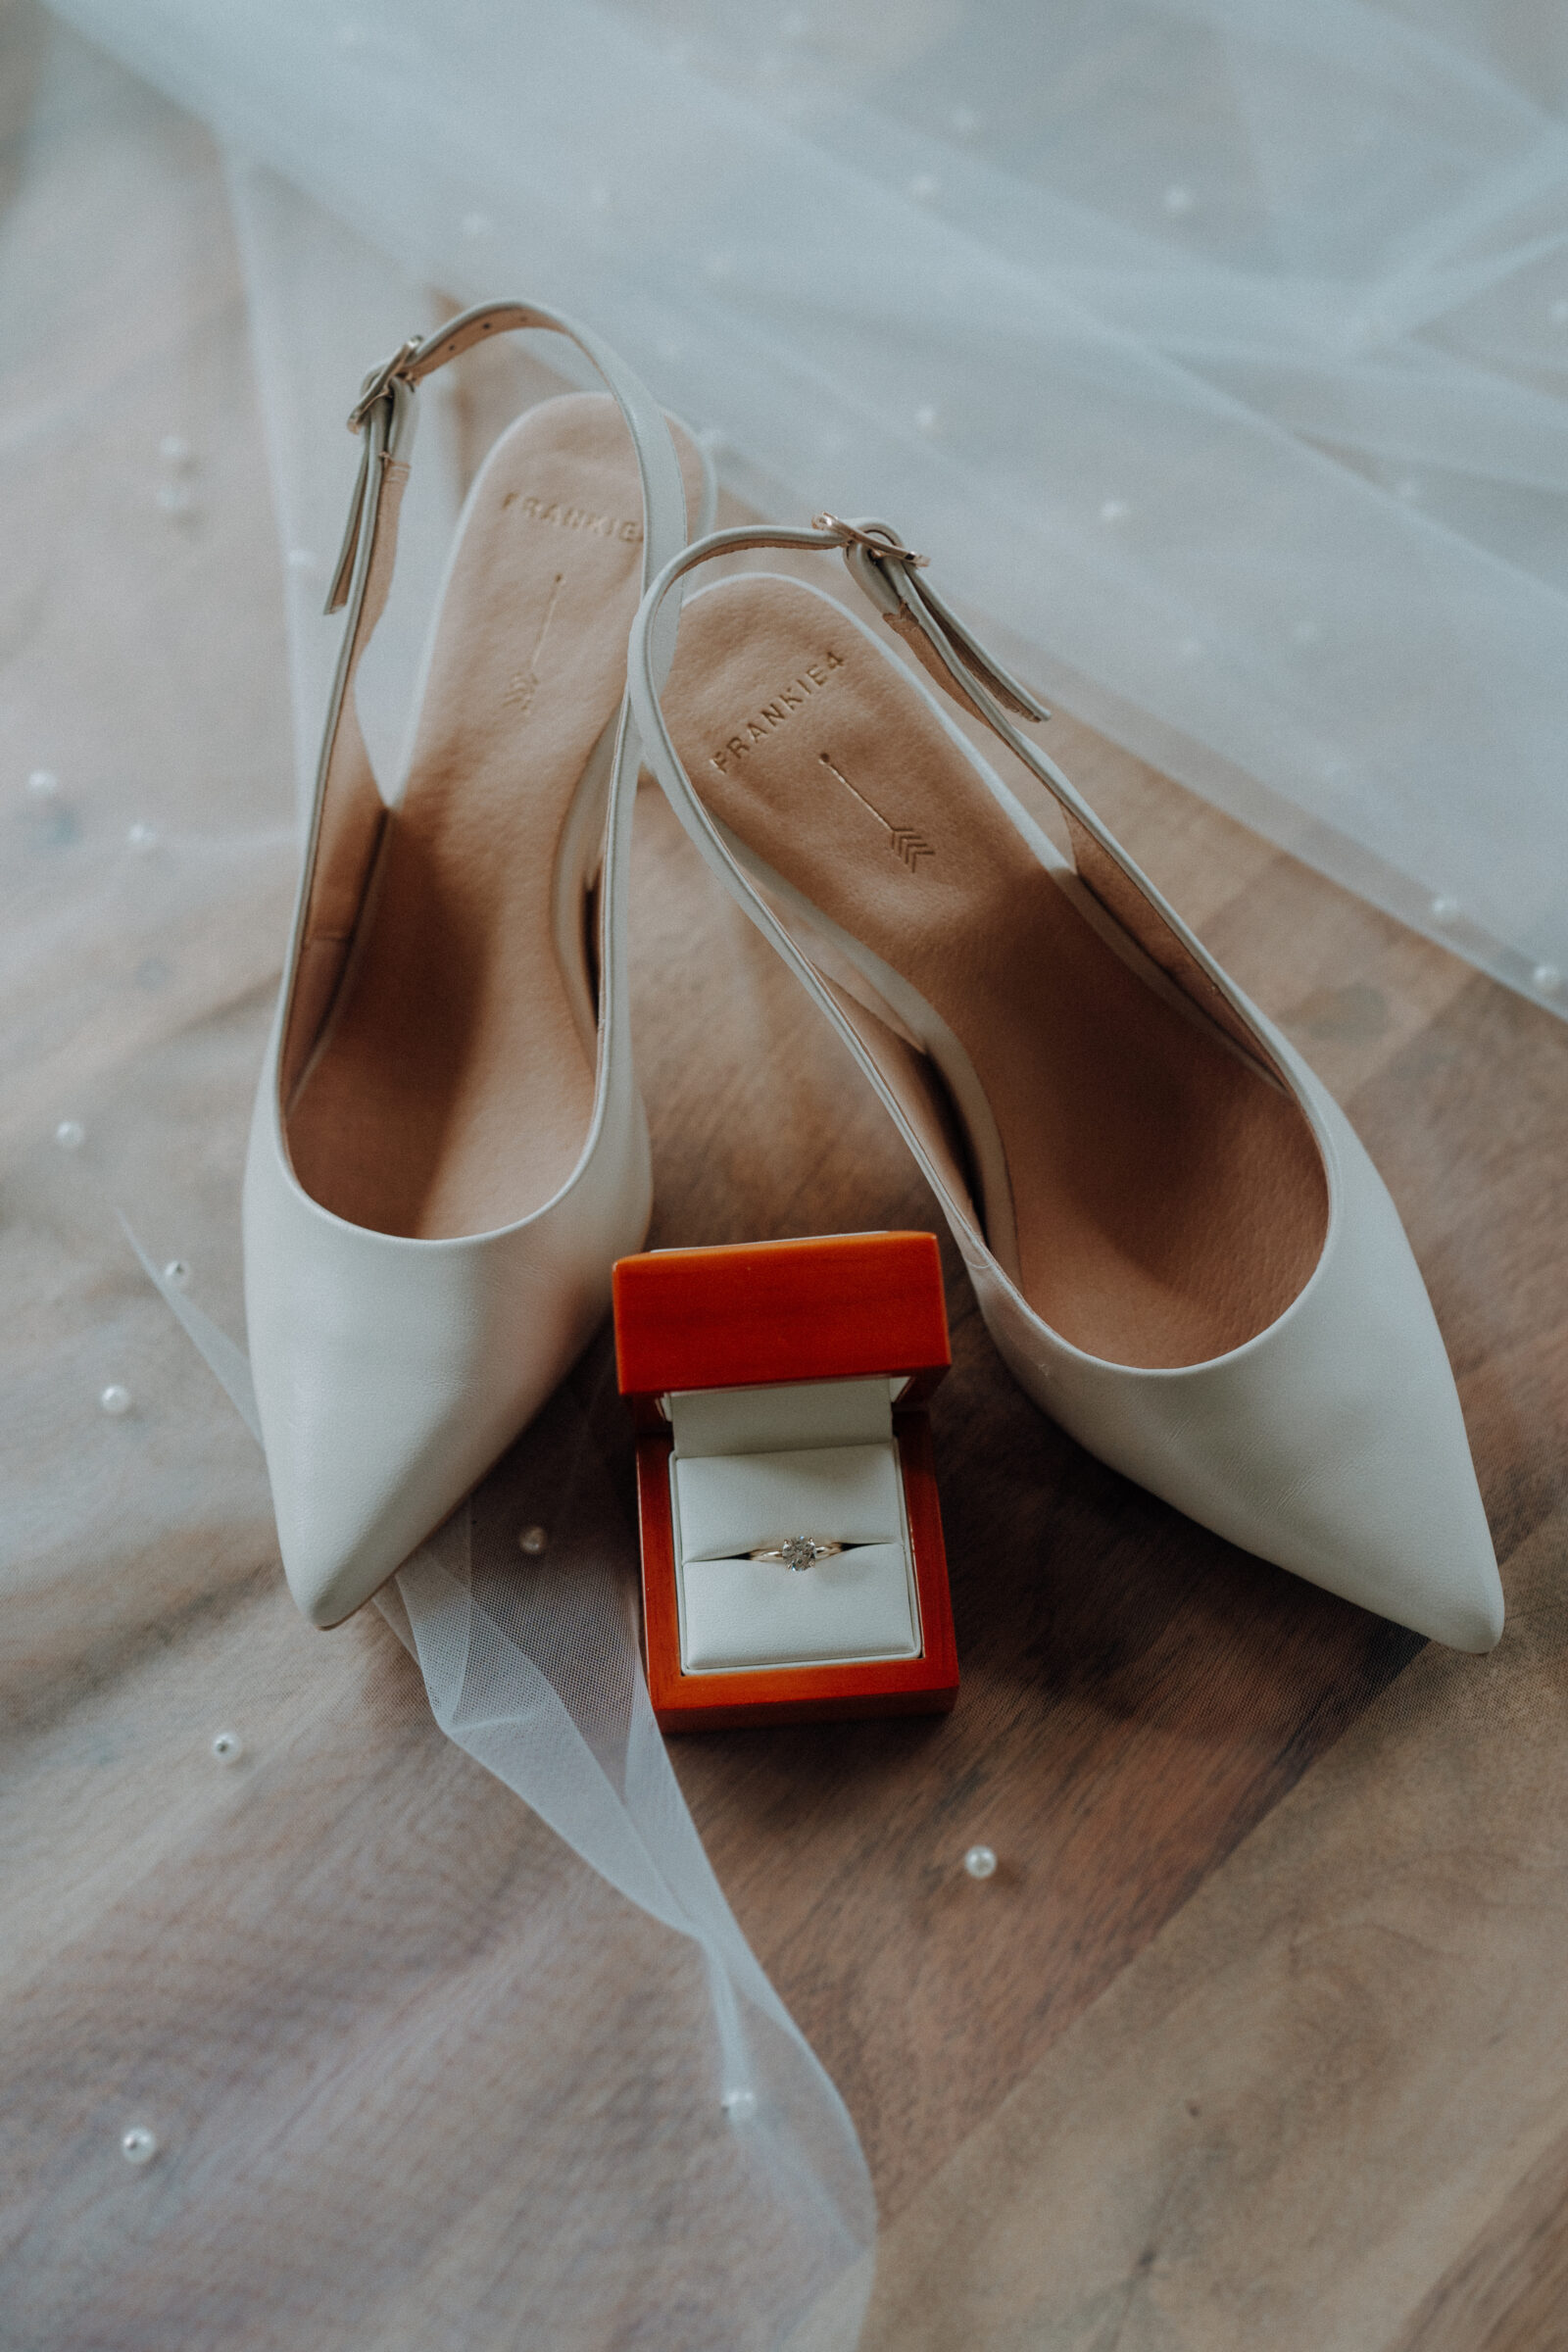
{"type": "Polygon", "coordinates": [[[595,1105],[559,1192],[496,1232],[404,1240],[350,1225],[289,1167],[280,1049],[303,936],[322,802],[360,647],[388,442],[407,454],[411,379],[482,334],[550,327],[595,362],[628,421],[644,499],[644,583],[684,546],[686,499],[651,393],[588,329],[538,306],[463,313],[418,346],[364,421],[350,513],[348,621],[315,811],[244,1169],[244,1310],[256,1409],[289,1588],[317,1625],[350,1616],[538,1411],[609,1308],[609,1270],[651,1211],[632,1075],[625,894],[639,741],[621,708],[602,875],[595,1105]]]}

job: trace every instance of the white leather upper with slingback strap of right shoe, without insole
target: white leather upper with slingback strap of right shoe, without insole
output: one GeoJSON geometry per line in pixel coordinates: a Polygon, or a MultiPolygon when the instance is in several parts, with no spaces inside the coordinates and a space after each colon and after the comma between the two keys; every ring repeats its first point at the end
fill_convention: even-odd
{"type": "MultiPolygon", "coordinates": [[[[1410,1244],[1363,1145],[1293,1047],[1213,962],[1060,769],[1009,722],[985,673],[966,663],[964,642],[940,626],[943,607],[936,607],[938,626],[929,626],[917,600],[886,590],[884,572],[898,583],[898,564],[884,567],[867,555],[865,527],[849,546],[844,527],[715,532],[668,564],[632,628],[630,691],[649,762],[675,814],[898,1122],[1020,1385],[1112,1468],[1232,1543],[1453,1649],[1490,1649],[1502,1632],[1502,1585],[1460,1399],[1410,1244]],[[663,628],[661,607],[686,572],[738,548],[844,548],[851,574],[875,572],[875,604],[886,612],[896,602],[900,619],[922,628],[926,666],[952,673],[961,701],[1159,910],[1293,1087],[1324,1157],[1328,1228],[1305,1289],[1244,1348],[1208,1364],[1152,1371],[1084,1355],[1051,1331],[990,1251],[969,1200],[954,1195],[842,1002],[757,891],[745,854],[708,816],[658,703],[668,666],[656,661],[654,628],[663,628]]],[[[912,675],[907,691],[926,694],[912,675]]],[[[1030,835],[1023,811],[1018,821],[1030,835]]]]}

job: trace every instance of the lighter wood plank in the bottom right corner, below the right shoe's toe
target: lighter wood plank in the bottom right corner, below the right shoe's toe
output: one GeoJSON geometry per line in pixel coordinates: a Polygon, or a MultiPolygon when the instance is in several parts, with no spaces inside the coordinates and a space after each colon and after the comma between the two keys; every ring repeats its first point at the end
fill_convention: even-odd
{"type": "MultiPolygon", "coordinates": [[[[1561,2223],[1514,2187],[1568,2114],[1566,1543],[1568,1510],[1502,1649],[1427,1646],[893,2220],[863,2352],[1389,2352],[1472,2246],[1486,2326],[1554,2352],[1561,2223]]],[[[1465,2317],[1443,2352],[1483,2352],[1465,2317]]]]}

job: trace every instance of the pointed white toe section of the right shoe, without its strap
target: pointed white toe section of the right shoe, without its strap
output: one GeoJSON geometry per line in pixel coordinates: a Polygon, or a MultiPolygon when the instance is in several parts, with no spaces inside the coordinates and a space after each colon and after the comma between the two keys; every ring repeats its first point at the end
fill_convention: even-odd
{"type": "Polygon", "coordinates": [[[1427,1289],[1361,1138],[1272,1040],[1331,1178],[1324,1254],[1279,1322],[1211,1364],[1103,1364],[959,1235],[980,1312],[1020,1385],[1100,1461],[1328,1592],[1493,1649],[1502,1585],[1427,1289]]]}

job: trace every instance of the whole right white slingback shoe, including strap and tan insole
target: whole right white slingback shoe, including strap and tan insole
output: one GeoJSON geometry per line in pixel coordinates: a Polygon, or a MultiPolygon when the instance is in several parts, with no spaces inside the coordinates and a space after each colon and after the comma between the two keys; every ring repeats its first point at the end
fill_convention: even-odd
{"type": "Polygon", "coordinates": [[[997,1348],[1081,1444],[1455,1649],[1502,1632],[1465,1421],[1349,1122],[1011,715],[1044,717],[879,522],[717,532],[632,630],[686,833],[898,1122],[997,1348]],[[1072,863],[877,628],[717,555],[837,550],[1053,795],[1072,863]],[[1009,715],[1011,713],[1011,715],[1009,715]]]}

